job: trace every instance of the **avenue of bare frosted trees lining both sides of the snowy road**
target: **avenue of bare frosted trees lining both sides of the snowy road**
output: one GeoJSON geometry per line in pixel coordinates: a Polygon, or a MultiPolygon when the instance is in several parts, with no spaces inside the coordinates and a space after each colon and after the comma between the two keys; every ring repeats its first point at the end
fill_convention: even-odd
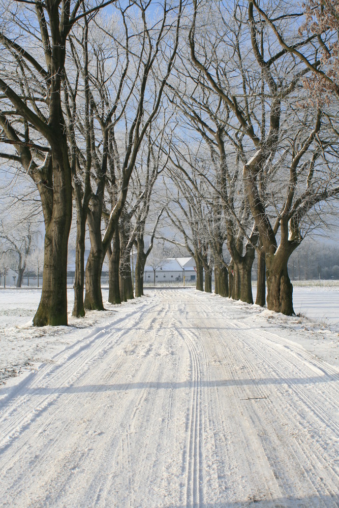
{"type": "Polygon", "coordinates": [[[0,23],[3,188],[25,210],[11,226],[14,195],[0,241],[22,276],[33,182],[34,325],[67,324],[72,217],[75,316],[104,310],[105,257],[109,301],[143,295],[162,224],[194,257],[197,290],[214,270],[215,293],[253,303],[257,253],[256,303],[293,314],[289,260],[337,210],[338,0],[0,0],[0,23]]]}

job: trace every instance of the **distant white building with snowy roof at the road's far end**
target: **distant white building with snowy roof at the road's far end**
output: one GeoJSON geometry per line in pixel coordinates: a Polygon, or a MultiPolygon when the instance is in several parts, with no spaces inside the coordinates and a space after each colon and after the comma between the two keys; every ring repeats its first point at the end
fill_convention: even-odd
{"type": "MultiPolygon", "coordinates": [[[[168,258],[156,269],[156,282],[195,282],[196,278],[194,258],[168,258]]],[[[154,281],[154,270],[149,265],[144,268],[144,281],[154,281]]]]}

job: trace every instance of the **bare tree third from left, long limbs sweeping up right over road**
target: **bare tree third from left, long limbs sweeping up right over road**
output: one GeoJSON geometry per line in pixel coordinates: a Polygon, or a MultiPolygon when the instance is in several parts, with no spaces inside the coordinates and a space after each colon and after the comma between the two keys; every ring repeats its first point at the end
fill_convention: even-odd
{"type": "MultiPolygon", "coordinates": [[[[129,51],[129,58],[132,59],[133,57],[134,61],[133,94],[130,92],[127,97],[121,98],[121,100],[119,96],[116,106],[113,107],[110,103],[108,103],[107,107],[107,97],[103,96],[102,102],[99,106],[96,106],[95,111],[96,120],[102,131],[103,141],[100,143],[102,148],[99,150],[99,144],[96,144],[95,140],[93,140],[93,157],[96,158],[97,175],[100,178],[98,177],[97,192],[91,197],[87,217],[91,251],[86,265],[86,295],[84,305],[85,308],[89,309],[103,309],[100,288],[102,263],[113,235],[117,234],[118,220],[127,199],[129,181],[142,140],[161,107],[163,89],[172,69],[179,40],[179,26],[182,14],[181,0],[178,1],[176,6],[172,5],[170,7],[165,2],[162,18],[152,28],[148,26],[147,21],[146,11],[149,4],[144,5],[140,2],[133,5],[138,9],[139,21],[133,17],[135,16],[135,10],[133,10],[133,14],[124,12],[125,27],[127,30],[132,30],[132,34],[129,37],[134,40],[136,45],[133,48],[133,52],[129,51]],[[156,72],[158,73],[157,77],[153,74],[156,72]],[[129,102],[130,98],[131,103],[129,102]],[[119,143],[116,132],[117,122],[116,118],[113,118],[118,104],[121,105],[120,111],[122,111],[122,114],[119,113],[118,119],[122,119],[121,121],[125,122],[124,131],[126,137],[123,140],[123,144],[122,142],[119,143]],[[103,108],[101,108],[101,105],[103,108]],[[108,163],[115,196],[113,196],[112,209],[109,211],[109,217],[106,221],[102,237],[102,200],[108,163]]],[[[122,12],[122,8],[120,11],[122,12]]],[[[101,94],[105,93],[103,87],[98,91],[101,94]]]]}

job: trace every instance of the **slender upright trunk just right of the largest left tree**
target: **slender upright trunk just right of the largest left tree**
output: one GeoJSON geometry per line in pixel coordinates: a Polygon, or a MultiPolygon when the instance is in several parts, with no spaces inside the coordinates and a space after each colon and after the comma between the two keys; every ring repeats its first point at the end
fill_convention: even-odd
{"type": "Polygon", "coordinates": [[[83,317],[85,309],[83,306],[84,287],[84,255],[85,255],[85,230],[86,217],[81,210],[77,210],[77,236],[75,245],[75,274],[74,274],[74,306],[72,315],[83,317]]]}

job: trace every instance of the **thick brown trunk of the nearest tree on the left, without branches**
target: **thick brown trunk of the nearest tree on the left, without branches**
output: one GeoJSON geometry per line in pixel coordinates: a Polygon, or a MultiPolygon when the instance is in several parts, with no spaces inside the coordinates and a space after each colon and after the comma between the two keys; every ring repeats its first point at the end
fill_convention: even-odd
{"type": "MultiPolygon", "coordinates": [[[[67,325],[67,245],[72,221],[72,180],[66,140],[51,146],[53,214],[45,234],[41,300],[35,326],[67,325]]],[[[52,185],[52,182],[50,182],[52,185]]]]}

